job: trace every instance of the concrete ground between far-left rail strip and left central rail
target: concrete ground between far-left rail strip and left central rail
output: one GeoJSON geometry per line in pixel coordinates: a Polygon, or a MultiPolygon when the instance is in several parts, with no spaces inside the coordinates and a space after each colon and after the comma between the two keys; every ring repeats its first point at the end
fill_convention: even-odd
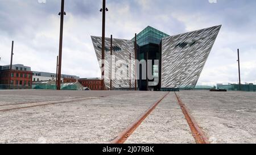
{"type": "Polygon", "coordinates": [[[110,143],[163,92],[0,112],[0,143],[110,143]]]}

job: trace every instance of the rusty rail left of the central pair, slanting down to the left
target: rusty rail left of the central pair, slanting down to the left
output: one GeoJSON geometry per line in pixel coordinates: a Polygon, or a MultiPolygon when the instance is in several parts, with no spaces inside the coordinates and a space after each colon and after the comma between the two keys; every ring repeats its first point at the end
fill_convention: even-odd
{"type": "Polygon", "coordinates": [[[169,94],[165,94],[162,98],[160,98],[158,101],[156,101],[152,106],[144,112],[134,123],[132,123],[128,128],[126,128],[123,132],[119,133],[117,138],[115,138],[112,141],[112,144],[123,144],[125,141],[131,136],[131,134],[141,125],[144,119],[147,118],[148,115],[151,114],[151,112],[158,106],[158,104],[169,94]]]}

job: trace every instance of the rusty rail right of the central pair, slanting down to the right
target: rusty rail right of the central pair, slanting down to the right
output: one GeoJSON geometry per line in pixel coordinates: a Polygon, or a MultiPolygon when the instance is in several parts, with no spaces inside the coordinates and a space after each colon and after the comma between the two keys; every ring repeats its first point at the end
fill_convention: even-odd
{"type": "Polygon", "coordinates": [[[191,129],[192,135],[196,141],[197,144],[209,144],[207,136],[205,136],[202,129],[199,127],[199,125],[196,123],[196,120],[192,117],[192,115],[189,113],[188,108],[183,104],[180,97],[175,93],[177,102],[179,103],[179,106],[185,116],[185,119],[188,122],[189,128],[191,129]]]}

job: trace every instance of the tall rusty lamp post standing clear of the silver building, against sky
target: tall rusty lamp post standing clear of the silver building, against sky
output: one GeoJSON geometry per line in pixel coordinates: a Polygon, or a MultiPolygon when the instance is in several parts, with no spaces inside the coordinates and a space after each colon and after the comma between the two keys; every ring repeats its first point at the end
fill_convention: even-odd
{"type": "Polygon", "coordinates": [[[60,44],[59,44],[59,68],[58,68],[58,76],[57,76],[57,90],[60,90],[60,83],[61,83],[61,58],[62,58],[62,45],[63,45],[63,23],[64,23],[64,4],[65,0],[61,0],[61,11],[60,15],[60,44]]]}

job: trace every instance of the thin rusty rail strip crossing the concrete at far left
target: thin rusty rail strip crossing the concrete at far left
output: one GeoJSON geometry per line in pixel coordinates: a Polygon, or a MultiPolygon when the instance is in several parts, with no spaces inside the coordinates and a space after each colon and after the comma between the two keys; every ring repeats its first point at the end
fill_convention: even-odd
{"type": "Polygon", "coordinates": [[[39,106],[48,106],[48,105],[53,105],[53,104],[76,102],[76,101],[81,101],[81,100],[98,99],[98,98],[100,98],[100,97],[73,98],[73,99],[64,99],[64,100],[51,100],[51,101],[45,101],[45,102],[8,104],[8,105],[2,105],[0,107],[0,112],[19,110],[19,109],[23,109],[23,108],[39,107],[39,106]],[[20,105],[26,105],[26,104],[27,104],[27,106],[20,106],[20,105]]]}

